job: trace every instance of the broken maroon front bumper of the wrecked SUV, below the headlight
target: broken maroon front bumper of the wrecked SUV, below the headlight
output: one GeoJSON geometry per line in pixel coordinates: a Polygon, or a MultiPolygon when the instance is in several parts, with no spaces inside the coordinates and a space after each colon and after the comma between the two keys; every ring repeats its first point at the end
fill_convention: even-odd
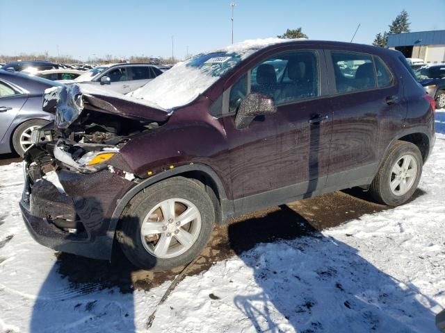
{"type": "Polygon", "coordinates": [[[111,216],[134,183],[108,169],[89,174],[60,170],[57,176],[63,189],[45,179],[31,184],[24,162],[20,207],[29,232],[54,250],[110,259],[115,232],[111,216]]]}

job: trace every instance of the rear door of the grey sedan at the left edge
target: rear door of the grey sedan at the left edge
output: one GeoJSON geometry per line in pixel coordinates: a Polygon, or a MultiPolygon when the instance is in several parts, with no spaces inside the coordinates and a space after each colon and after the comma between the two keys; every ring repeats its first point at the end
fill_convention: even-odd
{"type": "Polygon", "coordinates": [[[6,81],[0,80],[0,141],[9,141],[5,137],[10,124],[26,102],[27,95],[22,94],[6,81]]]}

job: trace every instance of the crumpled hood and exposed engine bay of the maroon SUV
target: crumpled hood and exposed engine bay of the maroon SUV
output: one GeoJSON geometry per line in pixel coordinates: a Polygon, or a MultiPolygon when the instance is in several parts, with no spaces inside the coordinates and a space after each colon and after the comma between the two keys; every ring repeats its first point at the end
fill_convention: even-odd
{"type": "Polygon", "coordinates": [[[77,85],[49,89],[43,110],[56,111],[56,119],[31,135],[34,146],[25,157],[31,181],[59,169],[81,173],[107,169],[104,162],[115,157],[131,137],[155,130],[169,116],[165,110],[122,101],[122,97],[84,94],[77,85]]]}

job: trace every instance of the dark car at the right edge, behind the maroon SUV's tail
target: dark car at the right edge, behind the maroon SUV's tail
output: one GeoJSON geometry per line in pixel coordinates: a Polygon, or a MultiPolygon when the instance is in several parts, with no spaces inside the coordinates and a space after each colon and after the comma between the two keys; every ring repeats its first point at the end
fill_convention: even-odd
{"type": "Polygon", "coordinates": [[[445,64],[418,69],[416,76],[426,92],[435,99],[436,108],[445,108],[445,64]]]}

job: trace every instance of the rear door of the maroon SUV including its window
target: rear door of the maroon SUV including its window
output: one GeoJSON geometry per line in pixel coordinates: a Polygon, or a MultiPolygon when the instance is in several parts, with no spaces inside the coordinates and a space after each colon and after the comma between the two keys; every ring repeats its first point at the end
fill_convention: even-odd
{"type": "Polygon", "coordinates": [[[333,110],[326,186],[366,185],[378,168],[382,137],[402,126],[403,87],[378,56],[330,50],[326,58],[333,110]]]}

